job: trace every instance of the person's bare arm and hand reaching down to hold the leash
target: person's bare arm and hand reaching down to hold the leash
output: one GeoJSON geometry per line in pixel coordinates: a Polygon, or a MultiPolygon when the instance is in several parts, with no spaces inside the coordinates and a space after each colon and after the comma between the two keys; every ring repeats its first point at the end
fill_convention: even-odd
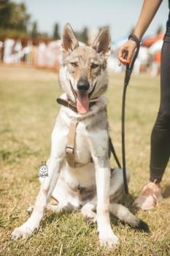
{"type": "MultiPolygon", "coordinates": [[[[142,6],[142,11],[139,16],[139,20],[134,29],[134,34],[140,40],[144,35],[144,32],[147,30],[148,26],[155,16],[162,0],[144,0],[144,4],[142,6]]],[[[129,39],[128,42],[125,42],[120,49],[118,50],[118,61],[119,65],[121,63],[127,64],[131,61],[131,57],[134,54],[134,50],[136,48],[136,42],[129,39]]]]}

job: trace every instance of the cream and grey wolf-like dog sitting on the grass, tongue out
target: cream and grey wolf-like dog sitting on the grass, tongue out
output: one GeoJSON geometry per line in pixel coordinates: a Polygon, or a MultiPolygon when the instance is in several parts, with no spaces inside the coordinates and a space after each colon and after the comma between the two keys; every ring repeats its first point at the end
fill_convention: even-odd
{"type": "Polygon", "coordinates": [[[39,178],[39,194],[34,207],[28,209],[31,216],[11,236],[31,236],[39,229],[46,208],[56,213],[78,210],[85,219],[97,222],[101,246],[115,246],[118,238],[109,213],[131,227],[147,230],[148,226],[117,203],[124,194],[123,171],[111,170],[109,163],[107,99],[102,95],[108,86],[109,30],[101,29],[92,45],[80,46],[66,23],[61,41],[59,82],[64,93],[58,100],[62,106],[52,133],[48,176],[39,178]],[[68,146],[69,136],[73,146],[68,146]],[[58,205],[47,204],[51,196],[58,205]]]}

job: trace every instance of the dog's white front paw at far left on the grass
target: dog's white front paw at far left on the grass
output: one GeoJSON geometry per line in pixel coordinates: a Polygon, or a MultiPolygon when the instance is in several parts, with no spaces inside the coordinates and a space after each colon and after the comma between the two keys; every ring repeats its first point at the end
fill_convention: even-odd
{"type": "Polygon", "coordinates": [[[18,239],[27,239],[32,235],[34,231],[31,230],[29,227],[26,227],[26,225],[22,225],[20,227],[16,227],[15,230],[11,234],[12,240],[18,240],[18,239]]]}

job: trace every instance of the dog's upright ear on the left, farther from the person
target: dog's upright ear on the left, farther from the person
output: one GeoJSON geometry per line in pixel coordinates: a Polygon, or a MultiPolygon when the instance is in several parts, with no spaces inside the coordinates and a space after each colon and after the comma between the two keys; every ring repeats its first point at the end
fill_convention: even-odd
{"type": "Polygon", "coordinates": [[[79,42],[74,34],[72,26],[69,23],[66,23],[66,25],[63,27],[61,41],[61,51],[63,56],[79,47],[79,42]]]}

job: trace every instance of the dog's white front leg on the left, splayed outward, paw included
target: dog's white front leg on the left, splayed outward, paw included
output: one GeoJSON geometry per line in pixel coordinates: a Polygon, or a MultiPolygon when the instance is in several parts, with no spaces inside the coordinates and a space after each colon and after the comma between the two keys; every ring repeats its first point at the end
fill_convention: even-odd
{"type": "Polygon", "coordinates": [[[28,238],[39,228],[39,223],[42,220],[47,207],[47,201],[50,199],[63,164],[66,136],[62,135],[63,132],[61,132],[60,129],[54,129],[52,136],[52,151],[50,159],[47,162],[48,176],[45,178],[45,181],[42,182],[31,217],[29,217],[23,225],[15,228],[12,232],[11,238],[14,240],[28,238]],[[58,132],[61,135],[60,137],[58,136],[58,132]]]}

